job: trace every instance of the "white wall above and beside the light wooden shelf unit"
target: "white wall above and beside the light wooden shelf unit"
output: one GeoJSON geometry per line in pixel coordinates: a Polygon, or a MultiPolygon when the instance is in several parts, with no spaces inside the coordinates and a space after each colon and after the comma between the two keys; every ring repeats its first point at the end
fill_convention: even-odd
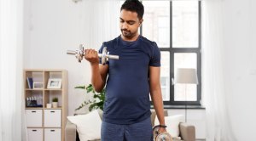
{"type": "Polygon", "coordinates": [[[88,83],[88,64],[78,64],[67,49],[87,42],[83,34],[80,4],[72,1],[25,1],[25,68],[65,69],[68,71],[68,115],[78,106],[84,96],[73,87],[88,83]],[[84,38],[82,38],[82,35],[84,38]]]}

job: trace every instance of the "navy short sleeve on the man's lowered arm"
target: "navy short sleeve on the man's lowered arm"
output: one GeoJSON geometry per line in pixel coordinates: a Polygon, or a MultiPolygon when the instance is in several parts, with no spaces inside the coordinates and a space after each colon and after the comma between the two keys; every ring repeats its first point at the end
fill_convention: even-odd
{"type": "Polygon", "coordinates": [[[158,48],[157,44],[154,42],[154,46],[152,48],[152,56],[149,62],[150,66],[160,66],[160,49],[158,48]]]}

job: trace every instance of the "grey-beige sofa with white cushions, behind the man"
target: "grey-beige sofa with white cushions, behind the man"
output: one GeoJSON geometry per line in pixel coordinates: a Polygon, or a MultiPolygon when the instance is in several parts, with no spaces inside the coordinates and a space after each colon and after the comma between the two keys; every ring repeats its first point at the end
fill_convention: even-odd
{"type": "MultiPolygon", "coordinates": [[[[152,110],[151,115],[151,122],[154,126],[154,119],[155,119],[155,111],[152,110]]],[[[99,113],[101,118],[102,114],[99,113]]],[[[167,110],[165,110],[165,116],[167,115],[167,110]]],[[[168,126],[168,125],[167,125],[168,126]]],[[[179,132],[180,132],[180,138],[183,141],[195,141],[195,126],[189,125],[187,123],[181,122],[179,123],[179,132]]],[[[180,141],[180,139],[173,139],[174,141],[180,141]]],[[[65,141],[79,141],[79,135],[77,133],[77,127],[75,124],[71,123],[67,120],[67,124],[65,127],[65,141]]]]}

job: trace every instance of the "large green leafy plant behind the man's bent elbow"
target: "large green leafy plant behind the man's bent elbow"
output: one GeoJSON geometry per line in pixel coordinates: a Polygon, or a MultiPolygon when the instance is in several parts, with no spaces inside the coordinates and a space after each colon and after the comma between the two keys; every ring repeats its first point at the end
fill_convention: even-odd
{"type": "Polygon", "coordinates": [[[106,93],[105,87],[102,89],[101,93],[96,93],[96,91],[94,90],[94,87],[91,84],[89,84],[87,87],[86,86],[78,86],[75,88],[86,89],[86,93],[93,93],[93,101],[84,100],[84,102],[82,104],[80,104],[79,108],[77,108],[75,110],[80,110],[87,104],[90,104],[89,111],[96,110],[96,109],[103,110],[103,104],[105,101],[105,93],[106,93]]]}

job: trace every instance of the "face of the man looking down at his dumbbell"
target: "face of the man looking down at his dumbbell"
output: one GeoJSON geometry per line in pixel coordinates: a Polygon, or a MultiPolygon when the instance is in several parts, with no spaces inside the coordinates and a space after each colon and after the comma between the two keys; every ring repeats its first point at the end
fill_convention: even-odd
{"type": "Polygon", "coordinates": [[[139,20],[136,12],[121,10],[120,13],[120,30],[122,36],[126,39],[132,39],[138,34],[138,28],[140,27],[143,20],[139,20]]]}

